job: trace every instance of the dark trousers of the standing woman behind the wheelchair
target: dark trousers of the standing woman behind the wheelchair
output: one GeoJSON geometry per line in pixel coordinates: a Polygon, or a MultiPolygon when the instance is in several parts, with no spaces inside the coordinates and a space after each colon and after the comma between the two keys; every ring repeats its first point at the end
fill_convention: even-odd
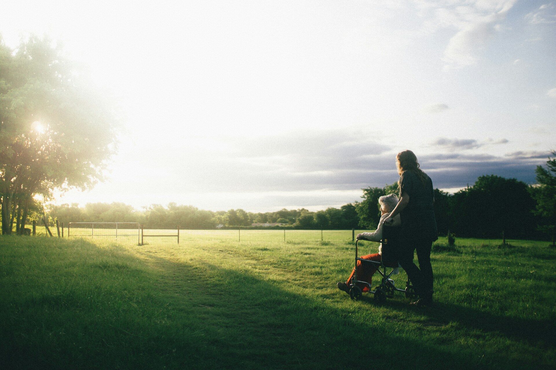
{"type": "Polygon", "coordinates": [[[429,296],[433,291],[433,266],[430,265],[430,241],[413,240],[403,243],[398,250],[398,261],[408,274],[415,292],[420,296],[429,296]],[[417,250],[419,267],[413,263],[413,252],[417,250]]]}

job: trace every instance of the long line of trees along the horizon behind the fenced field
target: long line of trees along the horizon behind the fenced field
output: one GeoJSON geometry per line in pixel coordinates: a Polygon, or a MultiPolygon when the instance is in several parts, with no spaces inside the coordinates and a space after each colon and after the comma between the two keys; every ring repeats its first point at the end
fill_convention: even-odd
{"type": "MultiPolygon", "coordinates": [[[[556,153],[554,153],[556,155],[556,153]]],[[[435,189],[434,212],[439,235],[459,237],[554,240],[556,225],[556,159],[536,169],[538,184],[528,185],[497,175],[480,176],[475,184],[449,194],[435,189]]],[[[398,184],[363,189],[363,200],[340,208],[311,212],[306,209],[275,212],[200,210],[194,206],[154,204],[138,211],[123,203],[90,203],[85,207],[63,204],[49,207],[51,220],[83,222],[139,222],[148,228],[212,229],[251,227],[254,223],[279,223],[278,228],[368,229],[380,220],[380,196],[398,194],[398,184]]],[[[32,211],[39,219],[40,210],[32,211]]]]}

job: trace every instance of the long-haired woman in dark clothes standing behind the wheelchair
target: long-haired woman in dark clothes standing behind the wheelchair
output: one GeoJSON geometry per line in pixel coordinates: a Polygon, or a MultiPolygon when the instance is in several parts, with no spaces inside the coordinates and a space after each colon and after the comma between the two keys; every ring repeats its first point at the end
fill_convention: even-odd
{"type": "MultiPolygon", "coordinates": [[[[417,158],[411,150],[404,150],[398,153],[396,156],[396,167],[400,175],[400,180],[398,181],[399,201],[387,216],[383,214],[385,217],[384,219],[381,217],[382,225],[379,224],[379,226],[394,226],[398,222],[396,217],[400,217],[400,243],[396,247],[396,256],[401,267],[408,274],[415,293],[419,296],[419,300],[413,303],[429,305],[433,301],[433,268],[430,264],[430,250],[433,242],[438,239],[433,209],[433,182],[419,168],[417,158]],[[413,252],[415,250],[417,251],[419,267],[413,262],[413,252]]],[[[378,231],[360,234],[358,239],[364,239],[365,234],[376,234],[378,231]]],[[[364,256],[363,258],[371,258],[370,256],[373,255],[364,256]]],[[[375,256],[372,258],[378,259],[379,257],[375,256]]],[[[358,280],[361,281],[361,278],[368,278],[370,283],[369,273],[372,276],[376,269],[360,272],[360,268],[363,270],[363,266],[360,267],[359,262],[357,270],[358,280]]],[[[369,263],[369,265],[373,265],[373,263],[369,263]]],[[[349,283],[349,280],[347,283],[349,283]]],[[[340,290],[346,291],[347,283],[338,283],[337,286],[340,290]]]]}

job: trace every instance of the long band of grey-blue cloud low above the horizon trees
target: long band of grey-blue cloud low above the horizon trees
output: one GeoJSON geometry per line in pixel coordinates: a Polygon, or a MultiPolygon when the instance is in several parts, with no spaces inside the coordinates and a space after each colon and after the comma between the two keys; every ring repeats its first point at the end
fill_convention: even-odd
{"type": "MultiPolygon", "coordinates": [[[[443,143],[463,148],[478,145],[473,139],[440,141],[443,143]]],[[[231,149],[224,146],[206,148],[193,158],[191,151],[172,153],[174,157],[168,163],[173,164],[173,168],[164,176],[168,179],[165,191],[353,190],[392,184],[399,177],[395,153],[388,145],[374,141],[368,133],[304,131],[235,140],[234,144],[231,149]]],[[[535,166],[543,164],[548,155],[548,151],[519,151],[497,156],[463,150],[418,155],[418,158],[435,187],[452,188],[473,184],[478,176],[490,174],[534,183],[535,166]]],[[[157,170],[152,171],[156,173],[157,170]]],[[[296,199],[283,200],[296,202],[296,199]]],[[[334,204],[322,203],[322,199],[312,202],[334,204]]]]}

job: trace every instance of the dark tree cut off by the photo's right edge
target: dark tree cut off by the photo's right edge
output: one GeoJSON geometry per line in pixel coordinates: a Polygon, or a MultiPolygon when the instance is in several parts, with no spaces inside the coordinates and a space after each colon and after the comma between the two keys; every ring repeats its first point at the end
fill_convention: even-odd
{"type": "MultiPolygon", "coordinates": [[[[552,155],[556,155],[556,151],[552,155]]],[[[552,237],[552,246],[556,246],[556,158],[548,158],[547,168],[537,166],[535,174],[538,186],[531,188],[536,202],[533,212],[543,219],[543,224],[538,229],[549,234],[552,237]]]]}

